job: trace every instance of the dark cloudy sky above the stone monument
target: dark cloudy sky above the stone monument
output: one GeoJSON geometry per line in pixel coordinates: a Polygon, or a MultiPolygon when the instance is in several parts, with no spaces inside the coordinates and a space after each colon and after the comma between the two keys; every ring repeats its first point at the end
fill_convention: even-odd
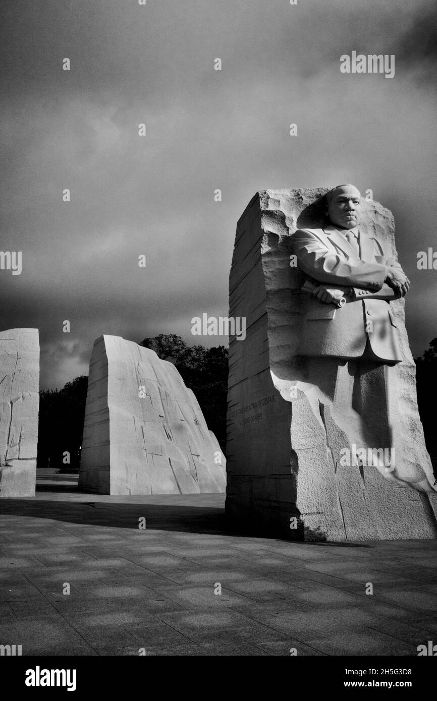
{"type": "Polygon", "coordinates": [[[236,220],[264,188],[353,182],[394,212],[421,354],[437,336],[437,271],[416,266],[437,250],[431,6],[3,0],[1,249],[22,274],[0,271],[1,328],[40,329],[41,387],[88,374],[102,333],[227,342],[191,336],[191,317],[227,315],[236,220]],[[340,74],[352,50],[394,54],[394,78],[340,74]]]}

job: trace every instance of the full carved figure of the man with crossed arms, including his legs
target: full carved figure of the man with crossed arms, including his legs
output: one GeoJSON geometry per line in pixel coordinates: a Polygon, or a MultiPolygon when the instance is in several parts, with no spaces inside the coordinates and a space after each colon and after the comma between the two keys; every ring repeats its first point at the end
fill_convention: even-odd
{"type": "Polygon", "coordinates": [[[386,244],[360,228],[354,185],[337,185],[325,200],[323,229],[292,236],[307,292],[296,352],[307,400],[316,416],[319,406],[329,407],[345,442],[390,449],[390,465],[374,463],[386,479],[429,490],[431,474],[417,467],[412,475],[394,458],[400,436],[396,368],[390,366],[403,357],[390,301],[405,296],[410,280],[386,244]]]}

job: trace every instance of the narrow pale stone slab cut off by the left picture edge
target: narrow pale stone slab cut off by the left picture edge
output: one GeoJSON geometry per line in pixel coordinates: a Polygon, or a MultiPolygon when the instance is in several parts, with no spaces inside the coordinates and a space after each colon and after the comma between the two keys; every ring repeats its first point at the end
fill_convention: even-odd
{"type": "Polygon", "coordinates": [[[0,497],[35,496],[38,329],[0,332],[0,497]]]}

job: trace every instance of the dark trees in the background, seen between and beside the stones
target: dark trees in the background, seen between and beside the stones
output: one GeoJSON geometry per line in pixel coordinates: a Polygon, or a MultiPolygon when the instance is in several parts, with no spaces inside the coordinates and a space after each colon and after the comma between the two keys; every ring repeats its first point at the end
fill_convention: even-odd
{"type": "MultiPolygon", "coordinates": [[[[226,455],[227,348],[187,346],[175,334],[144,339],[140,346],[152,348],[159,358],[173,362],[185,385],[196,395],[208,428],[215,433],[226,455]]],[[[423,356],[415,358],[415,363],[419,414],[426,448],[436,472],[437,432],[433,411],[437,389],[437,338],[431,341],[423,356]]],[[[66,472],[79,470],[87,387],[88,377],[81,375],[67,382],[62,390],[40,391],[37,467],[66,472]]]]}

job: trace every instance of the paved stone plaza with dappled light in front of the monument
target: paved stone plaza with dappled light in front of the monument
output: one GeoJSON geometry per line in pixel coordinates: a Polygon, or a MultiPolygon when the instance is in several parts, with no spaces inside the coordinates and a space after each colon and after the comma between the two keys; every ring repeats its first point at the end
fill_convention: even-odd
{"type": "Polygon", "coordinates": [[[417,655],[437,641],[436,564],[436,540],[248,538],[225,528],[224,494],[81,494],[76,479],[46,475],[35,498],[0,501],[0,644],[22,655],[417,655]]]}

